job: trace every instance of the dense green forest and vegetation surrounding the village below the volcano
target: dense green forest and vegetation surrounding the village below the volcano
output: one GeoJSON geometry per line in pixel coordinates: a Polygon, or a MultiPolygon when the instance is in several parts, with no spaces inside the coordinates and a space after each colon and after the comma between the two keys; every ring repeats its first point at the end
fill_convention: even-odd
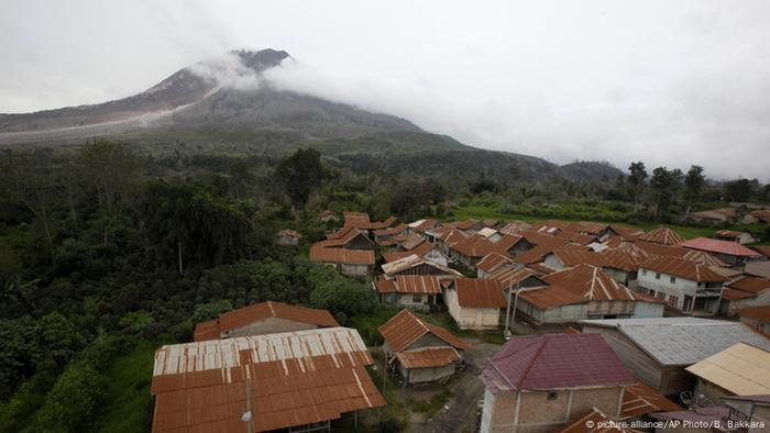
{"type": "MultiPolygon", "coordinates": [[[[3,151],[0,432],[148,431],[155,347],[191,341],[196,322],[254,302],[329,309],[376,342],[367,281],[307,258],[334,229],[319,211],[676,223],[692,235],[718,227],[682,225],[688,211],[770,201],[757,180],[706,176],[637,162],[593,182],[391,177],[312,148],[279,158],[179,144],[154,154],[103,140],[3,151]],[[276,246],[282,229],[299,231],[301,244],[276,246]]],[[[770,237],[765,226],[743,229],[770,237]]]]}

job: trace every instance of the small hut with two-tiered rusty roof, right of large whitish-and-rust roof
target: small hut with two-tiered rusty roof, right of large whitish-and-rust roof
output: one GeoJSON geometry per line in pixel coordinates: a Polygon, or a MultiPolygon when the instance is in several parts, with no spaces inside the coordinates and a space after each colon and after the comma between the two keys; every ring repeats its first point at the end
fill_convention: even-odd
{"type": "Polygon", "coordinates": [[[441,326],[426,323],[409,310],[402,310],[380,333],[385,343],[383,352],[391,368],[404,385],[443,381],[451,377],[463,354],[470,348],[464,341],[441,326]]]}

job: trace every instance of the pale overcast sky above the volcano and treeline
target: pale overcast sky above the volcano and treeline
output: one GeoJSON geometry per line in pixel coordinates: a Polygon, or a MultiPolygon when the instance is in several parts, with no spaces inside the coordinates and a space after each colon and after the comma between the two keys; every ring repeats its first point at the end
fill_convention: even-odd
{"type": "Polygon", "coordinates": [[[0,112],[131,96],[232,48],[287,86],[556,163],[770,181],[770,1],[0,0],[0,112]]]}

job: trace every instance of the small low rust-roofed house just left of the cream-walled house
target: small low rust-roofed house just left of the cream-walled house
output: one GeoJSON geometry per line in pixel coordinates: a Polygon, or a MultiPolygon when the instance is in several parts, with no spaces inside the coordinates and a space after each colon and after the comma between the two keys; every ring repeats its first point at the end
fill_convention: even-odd
{"type": "Polygon", "coordinates": [[[380,279],[372,285],[381,302],[420,311],[430,311],[441,297],[441,284],[435,275],[400,275],[393,279],[380,279]]]}

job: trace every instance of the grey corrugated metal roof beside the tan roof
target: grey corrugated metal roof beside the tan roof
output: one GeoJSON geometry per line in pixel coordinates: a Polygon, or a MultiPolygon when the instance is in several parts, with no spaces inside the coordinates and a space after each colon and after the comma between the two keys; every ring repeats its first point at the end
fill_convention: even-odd
{"type": "Polygon", "coordinates": [[[700,318],[583,320],[617,327],[661,365],[691,365],[744,342],[770,351],[770,340],[739,322],[700,318]]]}

